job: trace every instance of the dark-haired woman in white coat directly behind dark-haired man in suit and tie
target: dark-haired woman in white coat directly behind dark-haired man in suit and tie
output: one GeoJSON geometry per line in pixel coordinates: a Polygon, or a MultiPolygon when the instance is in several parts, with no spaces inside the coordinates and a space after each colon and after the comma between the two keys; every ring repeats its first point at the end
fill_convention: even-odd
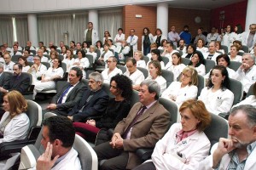
{"type": "Polygon", "coordinates": [[[84,71],[85,68],[88,68],[90,65],[89,59],[85,57],[84,50],[77,50],[78,58],[74,59],[73,66],[77,66],[83,71],[83,78],[85,79],[86,73],[84,71]]]}

